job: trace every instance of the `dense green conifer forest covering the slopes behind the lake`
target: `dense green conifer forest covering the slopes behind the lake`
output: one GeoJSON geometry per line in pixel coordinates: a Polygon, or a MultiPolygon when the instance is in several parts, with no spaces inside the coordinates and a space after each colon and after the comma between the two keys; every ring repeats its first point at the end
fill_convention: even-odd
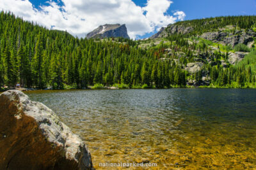
{"type": "Polygon", "coordinates": [[[228,52],[234,51],[230,46],[218,46],[219,50],[212,52],[208,48],[210,41],[198,39],[189,43],[198,32],[220,25],[253,30],[255,21],[256,17],[218,17],[178,22],[195,25],[196,29],[189,36],[172,34],[158,45],[141,48],[151,40],[77,38],[1,11],[0,86],[20,83],[22,87],[38,89],[83,89],[100,84],[170,88],[186,87],[189,80],[202,85],[202,78],[209,76],[209,87],[255,87],[254,47],[248,48],[250,55],[241,63],[223,67],[221,60],[227,60],[228,52]],[[200,27],[205,21],[214,24],[200,27]],[[172,51],[170,57],[164,57],[166,49],[172,51]],[[200,71],[191,74],[185,69],[188,63],[198,61],[204,63],[200,71]]]}

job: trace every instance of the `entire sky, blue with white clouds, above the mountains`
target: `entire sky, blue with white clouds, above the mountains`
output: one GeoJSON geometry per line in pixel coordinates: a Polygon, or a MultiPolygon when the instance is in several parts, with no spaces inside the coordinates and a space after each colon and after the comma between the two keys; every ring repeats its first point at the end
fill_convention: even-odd
{"type": "Polygon", "coordinates": [[[0,0],[0,10],[79,38],[104,24],[125,24],[132,39],[147,38],[181,20],[256,15],[256,0],[0,0]]]}

